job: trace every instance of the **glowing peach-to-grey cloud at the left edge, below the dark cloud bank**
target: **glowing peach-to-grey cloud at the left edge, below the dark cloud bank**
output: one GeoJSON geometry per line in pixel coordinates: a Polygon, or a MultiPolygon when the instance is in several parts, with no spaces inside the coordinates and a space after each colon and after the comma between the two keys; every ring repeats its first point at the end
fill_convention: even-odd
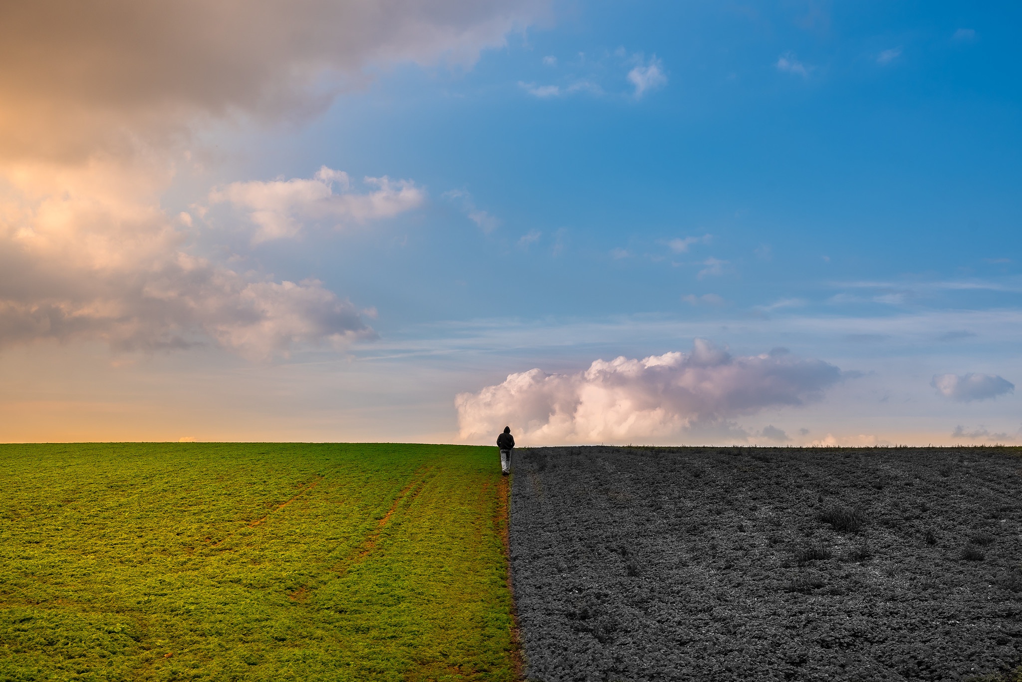
{"type": "Polygon", "coordinates": [[[375,332],[316,280],[272,281],[188,253],[158,169],[26,168],[0,200],[0,347],[98,339],[118,350],[213,340],[253,360],[375,332]]]}

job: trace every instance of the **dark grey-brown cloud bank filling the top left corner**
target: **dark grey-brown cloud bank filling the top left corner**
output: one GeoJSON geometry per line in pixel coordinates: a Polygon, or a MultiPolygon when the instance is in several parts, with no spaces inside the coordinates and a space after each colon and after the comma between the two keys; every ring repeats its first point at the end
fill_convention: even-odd
{"type": "Polygon", "coordinates": [[[0,157],[85,158],[172,142],[208,119],[325,109],[367,67],[470,64],[541,0],[59,0],[0,10],[0,157]]]}

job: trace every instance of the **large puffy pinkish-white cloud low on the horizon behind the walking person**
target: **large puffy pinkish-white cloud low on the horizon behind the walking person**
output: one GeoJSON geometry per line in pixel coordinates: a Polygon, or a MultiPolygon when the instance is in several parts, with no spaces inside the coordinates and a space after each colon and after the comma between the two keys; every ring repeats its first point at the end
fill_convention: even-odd
{"type": "Polygon", "coordinates": [[[596,360],[574,374],[531,369],[455,399],[461,438],[506,424],[523,442],[624,443],[735,430],[730,419],[822,398],[840,370],[790,356],[733,357],[697,338],[690,353],[596,360]]]}

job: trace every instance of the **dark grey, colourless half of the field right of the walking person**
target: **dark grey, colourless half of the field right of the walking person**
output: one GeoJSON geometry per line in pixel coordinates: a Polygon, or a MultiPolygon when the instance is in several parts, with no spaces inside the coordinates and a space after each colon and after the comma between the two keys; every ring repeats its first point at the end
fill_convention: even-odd
{"type": "Polygon", "coordinates": [[[1022,663],[1017,450],[515,457],[528,680],[966,680],[1022,663]]]}

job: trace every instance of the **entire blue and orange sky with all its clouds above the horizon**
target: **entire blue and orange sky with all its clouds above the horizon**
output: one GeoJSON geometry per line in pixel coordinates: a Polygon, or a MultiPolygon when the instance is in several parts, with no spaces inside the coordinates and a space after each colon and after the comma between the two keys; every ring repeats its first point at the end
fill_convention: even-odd
{"type": "Polygon", "coordinates": [[[0,441],[1022,443],[1017,3],[0,9],[0,441]]]}

